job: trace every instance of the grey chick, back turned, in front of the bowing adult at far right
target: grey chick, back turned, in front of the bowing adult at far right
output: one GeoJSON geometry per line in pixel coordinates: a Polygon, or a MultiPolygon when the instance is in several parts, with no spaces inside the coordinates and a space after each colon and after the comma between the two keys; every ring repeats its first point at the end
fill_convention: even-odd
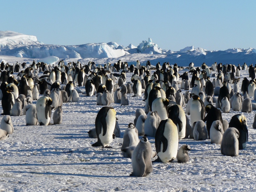
{"type": "Polygon", "coordinates": [[[240,134],[239,131],[234,128],[228,128],[224,133],[220,145],[220,152],[222,155],[226,156],[238,156],[239,153],[239,143],[238,138],[240,134]]]}

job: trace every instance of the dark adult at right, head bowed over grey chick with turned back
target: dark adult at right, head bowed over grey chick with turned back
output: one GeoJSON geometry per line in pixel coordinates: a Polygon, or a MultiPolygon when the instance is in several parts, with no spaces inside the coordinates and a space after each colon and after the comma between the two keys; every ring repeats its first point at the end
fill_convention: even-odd
{"type": "Polygon", "coordinates": [[[248,128],[247,128],[247,119],[243,114],[236,114],[234,115],[228,127],[235,127],[239,131],[239,150],[246,148],[246,144],[248,141],[248,128]]]}

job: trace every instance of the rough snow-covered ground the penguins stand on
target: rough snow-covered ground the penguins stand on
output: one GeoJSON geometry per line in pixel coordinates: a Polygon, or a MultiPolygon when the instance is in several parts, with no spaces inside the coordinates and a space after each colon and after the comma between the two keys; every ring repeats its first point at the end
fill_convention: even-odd
{"type": "MultiPolygon", "coordinates": [[[[33,61],[1,58],[9,63],[33,61]]],[[[127,81],[131,81],[131,76],[127,73],[127,81]]],[[[241,79],[244,76],[248,76],[248,71],[241,71],[241,79]]],[[[85,91],[84,87],[77,88],[85,91]]],[[[220,145],[211,144],[210,140],[182,139],[179,148],[183,144],[191,148],[188,163],[180,164],[177,160],[154,163],[153,172],[140,178],[129,176],[131,159],[123,157],[121,145],[124,130],[135,118],[135,110],[144,108],[144,95],[127,94],[129,106],[111,104],[121,129],[121,137],[110,144],[113,148],[91,146],[97,139],[89,138],[87,132],[95,127],[95,118],[102,106],[96,105],[96,96],[79,95],[79,102],[63,104],[60,125],[25,126],[25,116],[12,116],[14,133],[0,141],[0,191],[256,190],[256,130],[252,128],[255,111],[243,113],[247,118],[249,140],[246,149],[239,150],[239,156],[221,155],[220,145]]],[[[235,114],[238,112],[231,110],[222,116],[229,121],[235,114]]],[[[148,139],[155,150],[154,138],[148,139]]]]}

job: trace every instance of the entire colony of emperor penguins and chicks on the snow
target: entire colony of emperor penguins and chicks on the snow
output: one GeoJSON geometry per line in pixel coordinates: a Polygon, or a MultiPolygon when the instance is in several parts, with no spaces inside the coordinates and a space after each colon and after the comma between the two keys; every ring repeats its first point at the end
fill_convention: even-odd
{"type": "MultiPolygon", "coordinates": [[[[139,60],[136,67],[128,67],[128,63],[121,60],[113,66],[108,62],[104,67],[96,67],[91,61],[87,65],[79,61],[65,65],[60,60],[56,66],[34,61],[29,67],[26,63],[10,65],[2,62],[0,68],[0,99],[4,115],[0,126],[1,140],[13,133],[11,116],[26,115],[26,125],[49,125],[54,108],[53,124],[61,124],[63,103],[79,101],[78,93],[82,92],[74,89],[78,84],[85,86],[82,94],[96,95],[97,105],[104,106],[96,116],[95,128],[88,134],[98,139],[93,147],[108,148],[115,137],[120,137],[116,111],[108,105],[129,105],[127,93],[133,93],[134,97],[144,93],[145,108],[136,110],[134,122],[124,132],[121,147],[124,157],[132,159],[131,176],[137,177],[152,172],[151,158],[156,155],[154,162],[167,163],[176,158],[179,163],[188,162],[189,146],[184,144],[178,150],[178,142],[183,138],[209,138],[211,143],[220,144],[221,154],[238,156],[238,150],[246,148],[248,141],[246,118],[236,114],[228,123],[222,119],[221,110],[228,113],[232,108],[248,113],[256,109],[250,99],[253,96],[256,99],[256,68],[250,65],[247,69],[246,63],[242,68],[216,62],[211,68],[205,63],[201,68],[195,68],[190,63],[182,75],[178,72],[184,67],[178,67],[176,63],[165,62],[161,68],[159,62],[156,67],[151,66],[150,61],[141,66],[139,60]],[[248,70],[252,79],[249,81],[244,77],[243,96],[238,84],[241,69],[248,70]],[[131,82],[126,83],[126,73],[129,72],[133,75],[131,82]],[[17,76],[14,73],[18,73],[17,76]],[[43,74],[39,77],[39,73],[43,74]],[[188,73],[192,74],[191,79],[188,73]],[[211,82],[210,76],[217,78],[211,82]],[[233,89],[230,84],[234,84],[233,89]],[[43,96],[39,98],[39,94],[43,96]],[[36,105],[32,104],[33,100],[37,100],[36,105]],[[190,115],[190,120],[186,114],[190,115]],[[143,136],[140,141],[139,136],[143,136]],[[147,137],[155,137],[156,152],[152,151],[147,137]]],[[[256,128],[255,121],[256,118],[253,128],[256,128]]]]}

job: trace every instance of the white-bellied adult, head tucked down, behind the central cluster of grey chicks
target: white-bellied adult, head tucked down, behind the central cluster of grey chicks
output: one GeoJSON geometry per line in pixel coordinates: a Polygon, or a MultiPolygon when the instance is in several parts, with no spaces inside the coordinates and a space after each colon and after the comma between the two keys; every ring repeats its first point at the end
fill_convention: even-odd
{"type": "Polygon", "coordinates": [[[152,103],[152,111],[157,111],[158,116],[161,120],[168,118],[167,106],[169,105],[169,100],[164,97],[156,98],[152,103]]]}

